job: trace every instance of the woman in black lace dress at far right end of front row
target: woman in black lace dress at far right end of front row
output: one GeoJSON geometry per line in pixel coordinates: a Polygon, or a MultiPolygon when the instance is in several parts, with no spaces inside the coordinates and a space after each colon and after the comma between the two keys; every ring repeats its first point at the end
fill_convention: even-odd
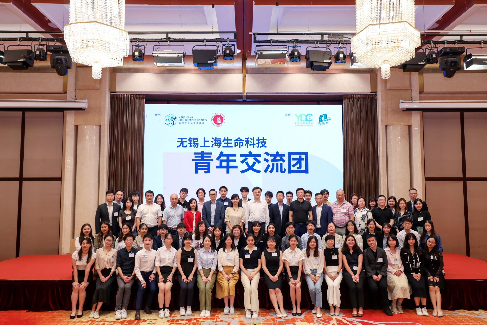
{"type": "Polygon", "coordinates": [[[425,254],[425,278],[430,289],[430,299],[433,305],[433,316],[443,317],[441,310],[440,289],[445,289],[445,277],[443,276],[443,254],[438,249],[435,236],[426,240],[425,254]]]}

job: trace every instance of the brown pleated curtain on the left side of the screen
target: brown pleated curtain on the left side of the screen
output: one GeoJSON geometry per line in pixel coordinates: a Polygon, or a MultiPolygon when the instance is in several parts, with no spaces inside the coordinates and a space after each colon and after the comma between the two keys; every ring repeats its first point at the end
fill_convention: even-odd
{"type": "Polygon", "coordinates": [[[144,105],[144,95],[112,95],[110,101],[108,188],[124,190],[124,198],[132,190],[142,193],[144,105]]]}

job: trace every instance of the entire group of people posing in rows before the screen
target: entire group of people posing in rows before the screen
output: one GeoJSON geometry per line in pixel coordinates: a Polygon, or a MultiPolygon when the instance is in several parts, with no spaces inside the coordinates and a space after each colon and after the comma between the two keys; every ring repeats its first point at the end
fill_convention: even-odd
{"type": "Polygon", "coordinates": [[[379,195],[365,198],[352,194],[345,200],[343,190],[337,201],[329,193],[315,194],[303,188],[284,196],[254,187],[241,188],[242,198],[226,196],[227,188],[196,191],[198,199],[186,201],[187,189],[154,198],[146,191],[139,204],[139,192],[123,200],[123,191],[106,192],[106,203],[98,206],[95,235],[85,223],[75,239],[73,264],[73,310],[71,318],[81,317],[86,288],[93,283],[90,318],[99,318],[101,306],[112,303],[112,287],[117,282],[115,319],[127,318],[131,286],[137,283],[135,320],[140,311],[151,314],[157,293],[159,317],[169,317],[171,288],[180,286],[179,314],[191,315],[194,284],[199,288],[200,317],[209,317],[212,290],[225,303],[224,314],[234,315],[235,285],[244,286],[247,319],[257,319],[260,277],[268,289],[277,317],[287,317],[283,307],[282,281],[289,285],[294,315],[301,315],[301,282],[306,281],[312,312],[322,316],[323,280],[331,315],[340,313],[340,284],[347,284],[352,316],[363,316],[367,282],[371,307],[382,308],[392,316],[402,313],[402,302],[411,296],[416,314],[428,316],[427,290],[433,316],[442,317],[440,289],[445,288],[443,247],[435,232],[426,202],[410,189],[411,200],[379,195]],[[284,203],[286,198],[287,203],[284,203]],[[282,274],[284,273],[284,274],[282,274]],[[116,280],[115,280],[116,278],[116,280]],[[367,280],[367,281],[366,281],[367,280]],[[147,291],[147,292],[146,292],[147,291]],[[144,299],[144,296],[147,298],[144,299]],[[76,305],[79,307],[76,310],[76,305]]]}

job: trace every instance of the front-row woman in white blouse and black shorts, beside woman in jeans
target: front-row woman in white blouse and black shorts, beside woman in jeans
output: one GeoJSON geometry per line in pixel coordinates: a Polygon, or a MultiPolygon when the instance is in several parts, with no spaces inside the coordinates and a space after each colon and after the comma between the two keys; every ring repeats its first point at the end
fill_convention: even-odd
{"type": "Polygon", "coordinates": [[[303,267],[304,254],[296,247],[300,238],[291,235],[288,238],[289,248],[282,254],[282,261],[285,264],[286,281],[290,287],[291,303],[293,304],[293,316],[301,316],[301,270],[303,267]]]}

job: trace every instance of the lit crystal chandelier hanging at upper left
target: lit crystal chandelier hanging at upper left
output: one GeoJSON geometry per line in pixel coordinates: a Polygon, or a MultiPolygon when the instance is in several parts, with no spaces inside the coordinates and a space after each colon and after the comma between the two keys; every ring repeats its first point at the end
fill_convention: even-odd
{"type": "Polygon", "coordinates": [[[71,0],[64,40],[73,61],[91,65],[100,79],[101,68],[122,66],[129,55],[124,28],[125,0],[71,0]]]}

